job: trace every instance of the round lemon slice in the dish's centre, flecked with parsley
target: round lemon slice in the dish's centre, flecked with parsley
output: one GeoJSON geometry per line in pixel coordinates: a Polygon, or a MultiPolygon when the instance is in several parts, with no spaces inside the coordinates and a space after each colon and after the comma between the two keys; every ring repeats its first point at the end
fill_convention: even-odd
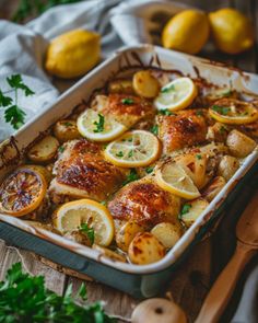
{"type": "Polygon", "coordinates": [[[140,168],[160,157],[161,142],[149,131],[133,130],[107,145],[105,158],[117,166],[140,168]]]}

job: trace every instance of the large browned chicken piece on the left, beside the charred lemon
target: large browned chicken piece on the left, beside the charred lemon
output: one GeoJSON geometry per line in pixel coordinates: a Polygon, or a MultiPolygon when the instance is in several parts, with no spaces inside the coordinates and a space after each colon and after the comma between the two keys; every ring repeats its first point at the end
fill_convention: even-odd
{"type": "Polygon", "coordinates": [[[54,203],[71,198],[106,199],[125,181],[119,168],[104,160],[101,148],[86,139],[63,145],[54,166],[56,177],[49,186],[54,203]]]}

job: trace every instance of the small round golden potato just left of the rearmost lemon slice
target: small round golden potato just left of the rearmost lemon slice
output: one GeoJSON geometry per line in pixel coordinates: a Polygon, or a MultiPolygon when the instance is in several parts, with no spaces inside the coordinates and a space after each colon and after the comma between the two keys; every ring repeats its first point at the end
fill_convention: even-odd
{"type": "Polygon", "coordinates": [[[139,71],[133,74],[132,86],[140,96],[152,99],[157,96],[161,85],[150,71],[139,71]]]}

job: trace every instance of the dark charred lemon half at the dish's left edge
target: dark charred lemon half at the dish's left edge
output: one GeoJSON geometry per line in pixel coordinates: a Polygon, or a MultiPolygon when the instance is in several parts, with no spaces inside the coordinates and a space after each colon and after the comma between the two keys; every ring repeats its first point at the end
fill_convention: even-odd
{"type": "Polygon", "coordinates": [[[22,217],[34,211],[43,201],[47,183],[42,172],[32,166],[19,168],[0,187],[0,212],[22,217]]]}

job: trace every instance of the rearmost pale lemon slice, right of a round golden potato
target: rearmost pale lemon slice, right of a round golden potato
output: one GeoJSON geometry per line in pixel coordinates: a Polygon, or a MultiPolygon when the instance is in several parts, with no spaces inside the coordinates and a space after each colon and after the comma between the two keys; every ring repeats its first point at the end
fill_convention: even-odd
{"type": "Polygon", "coordinates": [[[183,109],[192,103],[197,94],[197,86],[190,78],[178,78],[161,89],[154,105],[157,109],[183,109]]]}

